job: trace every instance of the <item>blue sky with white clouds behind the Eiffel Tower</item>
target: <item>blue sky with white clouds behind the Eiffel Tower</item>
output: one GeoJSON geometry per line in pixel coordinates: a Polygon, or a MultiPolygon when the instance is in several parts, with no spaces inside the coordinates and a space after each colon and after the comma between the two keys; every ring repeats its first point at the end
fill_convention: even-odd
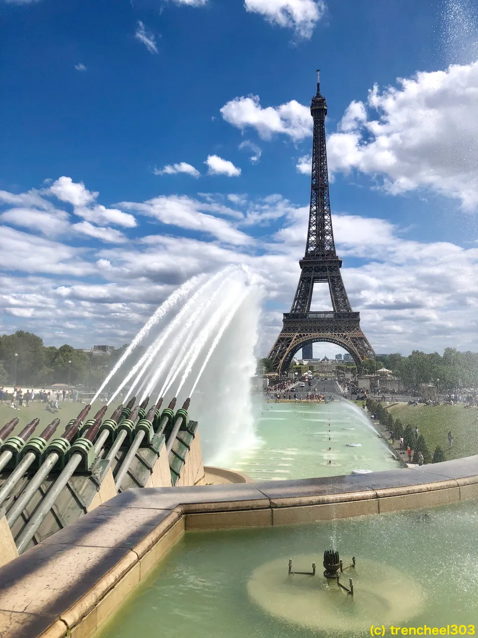
{"type": "Polygon", "coordinates": [[[319,67],[337,249],[368,338],[478,348],[471,2],[0,10],[1,332],[119,345],[185,279],[242,263],[267,291],[266,353],[305,246],[319,67]]]}

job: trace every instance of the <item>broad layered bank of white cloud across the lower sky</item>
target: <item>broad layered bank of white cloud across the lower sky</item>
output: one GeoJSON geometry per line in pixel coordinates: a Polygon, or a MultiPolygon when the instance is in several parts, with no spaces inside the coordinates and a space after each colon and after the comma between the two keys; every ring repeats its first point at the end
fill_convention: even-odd
{"type": "MultiPolygon", "coordinates": [[[[66,186],[61,194],[68,204],[86,197],[89,211],[99,206],[96,193],[88,197],[84,185],[82,190],[69,188],[69,182],[66,186]]],[[[68,213],[46,199],[53,193],[41,195],[0,193],[2,221],[9,224],[0,228],[1,330],[31,330],[48,344],[81,347],[101,339],[120,345],[185,279],[233,263],[253,272],[273,302],[261,327],[262,352],[268,352],[297,285],[307,206],[277,194],[260,200],[203,193],[198,200],[174,195],[126,202],[105,210],[136,211],[169,228],[167,234],[160,228],[158,234],[124,241],[119,231],[88,219],[68,230],[68,213]],[[55,220],[58,232],[68,230],[64,242],[36,233],[49,224],[53,234],[55,220]],[[11,228],[15,223],[29,232],[11,228]],[[68,245],[78,244],[80,237],[82,248],[68,245]],[[98,249],[95,239],[105,244],[98,249]]],[[[358,215],[335,214],[333,225],[352,308],[361,312],[361,325],[377,352],[478,349],[477,244],[462,248],[446,241],[413,241],[386,219],[358,215]]],[[[319,286],[316,299],[326,302],[327,297],[327,286],[322,291],[319,286]]]]}

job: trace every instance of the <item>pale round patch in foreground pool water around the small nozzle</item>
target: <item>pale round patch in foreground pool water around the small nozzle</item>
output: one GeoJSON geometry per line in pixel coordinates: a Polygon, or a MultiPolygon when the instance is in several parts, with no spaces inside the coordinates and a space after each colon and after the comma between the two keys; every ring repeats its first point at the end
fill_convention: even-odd
{"type": "Polygon", "coordinates": [[[257,567],[247,583],[250,598],[276,618],[319,629],[326,634],[365,630],[377,617],[384,625],[412,618],[423,607],[425,593],[409,576],[386,563],[368,558],[347,567],[335,550],[324,552],[324,578],[315,578],[314,556],[289,559],[289,572],[279,558],[257,567]],[[294,565],[310,565],[311,571],[293,571],[294,565]],[[340,582],[353,570],[349,586],[340,582]]]}

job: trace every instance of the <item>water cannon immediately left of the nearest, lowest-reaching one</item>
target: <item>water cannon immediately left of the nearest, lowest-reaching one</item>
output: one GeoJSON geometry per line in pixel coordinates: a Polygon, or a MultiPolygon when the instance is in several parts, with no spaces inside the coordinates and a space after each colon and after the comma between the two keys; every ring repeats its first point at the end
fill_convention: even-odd
{"type": "MultiPolygon", "coordinates": [[[[20,514],[22,514],[23,510],[33,497],[34,493],[36,493],[38,487],[41,486],[43,481],[47,478],[50,471],[53,470],[55,465],[60,461],[59,467],[61,468],[64,465],[65,456],[70,448],[70,441],[75,436],[76,430],[82,424],[82,420],[86,417],[91,409],[91,405],[85,406],[83,410],[78,414],[76,419],[73,419],[69,422],[68,426],[63,433],[63,436],[55,439],[48,445],[47,449],[43,455],[43,463],[41,463],[40,468],[34,475],[34,477],[29,481],[28,485],[25,487],[24,491],[17,498],[15,503],[13,503],[10,510],[8,510],[6,514],[7,523],[10,527],[17,521],[20,514]]],[[[49,492],[48,492],[49,494],[49,492]]]]}

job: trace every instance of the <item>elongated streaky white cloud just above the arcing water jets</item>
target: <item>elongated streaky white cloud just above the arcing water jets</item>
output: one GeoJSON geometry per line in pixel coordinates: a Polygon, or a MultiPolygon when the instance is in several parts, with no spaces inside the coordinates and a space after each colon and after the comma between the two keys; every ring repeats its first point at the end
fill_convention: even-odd
{"type": "Polygon", "coordinates": [[[253,242],[249,235],[237,230],[229,221],[201,212],[201,209],[207,208],[208,204],[202,204],[185,195],[182,197],[161,195],[143,204],[120,202],[118,205],[141,215],[159,219],[164,224],[205,232],[228,244],[240,246],[253,242]]]}

